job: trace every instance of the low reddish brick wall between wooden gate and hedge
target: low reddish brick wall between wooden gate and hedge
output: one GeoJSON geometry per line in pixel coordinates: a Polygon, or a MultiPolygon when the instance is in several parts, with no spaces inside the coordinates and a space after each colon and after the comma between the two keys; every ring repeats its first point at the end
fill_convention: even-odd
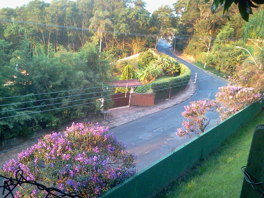
{"type": "Polygon", "coordinates": [[[153,106],[155,93],[131,93],[130,105],[153,106]]]}

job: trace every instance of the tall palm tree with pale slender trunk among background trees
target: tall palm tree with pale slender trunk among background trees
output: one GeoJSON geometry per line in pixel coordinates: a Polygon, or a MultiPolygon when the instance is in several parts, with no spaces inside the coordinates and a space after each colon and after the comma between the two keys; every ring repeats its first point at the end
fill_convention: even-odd
{"type": "Polygon", "coordinates": [[[97,29],[97,38],[100,36],[100,48],[99,52],[101,52],[102,39],[103,39],[103,31],[106,28],[112,27],[112,21],[108,18],[108,11],[95,11],[95,14],[92,18],[90,18],[90,26],[89,28],[97,29]]]}

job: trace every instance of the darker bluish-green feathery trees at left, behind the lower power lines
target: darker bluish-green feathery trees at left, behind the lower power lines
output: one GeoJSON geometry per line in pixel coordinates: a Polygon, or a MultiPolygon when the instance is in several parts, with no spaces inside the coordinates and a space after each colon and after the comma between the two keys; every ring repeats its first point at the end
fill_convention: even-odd
{"type": "MultiPolygon", "coordinates": [[[[2,44],[7,51],[10,44],[2,44]]],[[[102,86],[108,80],[109,62],[95,44],[86,43],[78,52],[62,46],[57,51],[50,48],[49,54],[42,47],[31,48],[30,41],[23,40],[2,63],[1,97],[29,95],[0,99],[0,115],[8,117],[0,120],[3,139],[95,115],[100,111],[98,99],[112,93],[100,92],[105,90],[102,86]],[[86,89],[89,87],[100,88],[86,89]],[[63,92],[66,90],[72,91],[63,92]],[[55,93],[39,94],[48,92],[55,93]],[[16,115],[22,116],[9,117],[16,115]]]]}

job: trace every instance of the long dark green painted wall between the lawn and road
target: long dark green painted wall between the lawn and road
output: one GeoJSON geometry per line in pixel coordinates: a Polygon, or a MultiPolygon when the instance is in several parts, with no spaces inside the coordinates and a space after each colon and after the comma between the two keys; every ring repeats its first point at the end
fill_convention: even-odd
{"type": "Polygon", "coordinates": [[[147,198],[154,196],[172,181],[186,173],[195,163],[205,158],[241,125],[256,116],[263,103],[254,103],[209,129],[198,138],[177,148],[135,177],[107,191],[102,198],[147,198]]]}

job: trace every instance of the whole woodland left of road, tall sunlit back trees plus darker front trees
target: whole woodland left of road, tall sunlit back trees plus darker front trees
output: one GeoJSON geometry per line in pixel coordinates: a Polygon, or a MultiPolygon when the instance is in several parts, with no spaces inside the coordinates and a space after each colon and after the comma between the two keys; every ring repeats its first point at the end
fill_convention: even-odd
{"type": "Polygon", "coordinates": [[[0,120],[1,139],[99,113],[99,98],[112,93],[105,82],[127,65],[111,63],[155,46],[156,37],[134,33],[166,36],[175,20],[167,6],[151,15],[137,0],[34,0],[0,18],[23,22],[0,22],[0,115],[25,114],[0,120]],[[57,93],[40,94],[48,92],[57,93]],[[3,99],[20,95],[29,96],[3,99]]]}

